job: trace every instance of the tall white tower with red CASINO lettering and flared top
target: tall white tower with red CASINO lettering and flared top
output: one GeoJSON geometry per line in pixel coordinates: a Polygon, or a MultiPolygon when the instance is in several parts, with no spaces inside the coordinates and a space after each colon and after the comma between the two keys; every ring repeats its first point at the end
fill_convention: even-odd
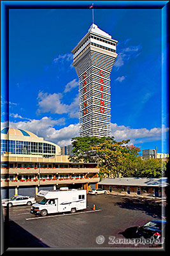
{"type": "Polygon", "coordinates": [[[92,24],[73,49],[79,79],[80,136],[111,136],[110,73],[117,40],[92,24]]]}

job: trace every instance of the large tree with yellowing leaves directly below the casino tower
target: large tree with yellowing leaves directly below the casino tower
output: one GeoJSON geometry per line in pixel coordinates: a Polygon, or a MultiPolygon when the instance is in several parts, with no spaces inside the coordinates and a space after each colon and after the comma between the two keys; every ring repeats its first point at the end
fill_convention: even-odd
{"type": "Polygon", "coordinates": [[[115,141],[113,137],[76,137],[72,139],[73,156],[71,161],[99,163],[100,177],[118,177],[124,170],[126,159],[129,161],[139,155],[139,148],[127,146],[130,140],[115,141]]]}

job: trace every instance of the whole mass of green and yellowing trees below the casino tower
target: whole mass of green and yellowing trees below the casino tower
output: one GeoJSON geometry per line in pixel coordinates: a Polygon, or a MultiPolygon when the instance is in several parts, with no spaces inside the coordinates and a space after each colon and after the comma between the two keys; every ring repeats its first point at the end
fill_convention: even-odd
{"type": "Polygon", "coordinates": [[[128,145],[129,141],[115,141],[114,137],[76,137],[72,139],[73,156],[69,159],[77,163],[97,163],[99,177],[162,177],[166,164],[161,159],[141,159],[140,148],[128,145]]]}

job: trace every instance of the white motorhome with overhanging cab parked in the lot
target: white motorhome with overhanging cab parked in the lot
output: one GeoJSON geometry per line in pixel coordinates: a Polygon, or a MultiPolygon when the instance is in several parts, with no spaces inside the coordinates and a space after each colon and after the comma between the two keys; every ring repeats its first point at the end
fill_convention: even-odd
{"type": "Polygon", "coordinates": [[[49,213],[76,212],[87,208],[87,191],[83,189],[41,190],[37,196],[43,199],[31,207],[31,213],[46,216],[49,213]]]}

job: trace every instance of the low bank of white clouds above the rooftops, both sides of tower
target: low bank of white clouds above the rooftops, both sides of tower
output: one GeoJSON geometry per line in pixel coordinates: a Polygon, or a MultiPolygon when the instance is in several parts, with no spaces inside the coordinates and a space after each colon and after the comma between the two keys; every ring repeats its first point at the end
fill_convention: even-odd
{"type": "MultiPolygon", "coordinates": [[[[38,136],[43,137],[47,141],[52,141],[60,147],[71,144],[71,139],[80,136],[79,129],[80,124],[71,124],[62,129],[55,129],[55,125],[64,125],[65,118],[59,120],[52,120],[51,117],[44,116],[40,120],[29,120],[26,122],[10,122],[10,127],[25,129],[27,131],[34,132],[38,136]]],[[[8,122],[1,123],[1,127],[8,126],[8,122]]],[[[162,128],[154,127],[152,129],[140,128],[133,129],[126,127],[125,125],[111,124],[111,136],[117,141],[130,139],[129,145],[136,143],[144,143],[146,141],[157,141],[162,140],[162,134],[167,134],[169,128],[164,125],[162,128]]]]}

